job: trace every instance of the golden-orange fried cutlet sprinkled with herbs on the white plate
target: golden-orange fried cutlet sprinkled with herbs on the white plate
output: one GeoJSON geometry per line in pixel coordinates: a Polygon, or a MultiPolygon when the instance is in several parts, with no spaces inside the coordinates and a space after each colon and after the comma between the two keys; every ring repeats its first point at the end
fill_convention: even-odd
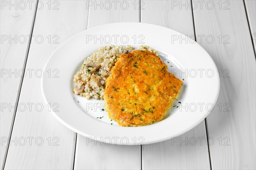
{"type": "Polygon", "coordinates": [[[159,122],[182,84],[154,53],[137,50],[122,54],[106,82],[108,116],[121,126],[159,122]]]}

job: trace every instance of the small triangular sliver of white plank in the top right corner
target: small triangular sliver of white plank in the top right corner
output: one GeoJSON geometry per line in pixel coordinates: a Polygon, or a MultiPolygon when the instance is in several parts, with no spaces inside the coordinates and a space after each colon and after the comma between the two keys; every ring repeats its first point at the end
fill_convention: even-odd
{"type": "Polygon", "coordinates": [[[254,49],[256,49],[256,0],[244,0],[250,31],[253,37],[254,49]]]}

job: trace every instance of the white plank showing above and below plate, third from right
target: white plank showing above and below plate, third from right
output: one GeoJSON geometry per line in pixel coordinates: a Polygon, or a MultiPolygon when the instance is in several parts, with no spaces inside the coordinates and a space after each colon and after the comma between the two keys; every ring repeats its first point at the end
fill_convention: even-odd
{"type": "MultiPolygon", "coordinates": [[[[193,37],[193,18],[189,6],[180,8],[181,1],[176,0],[144,2],[141,22],[166,26],[193,37]]],[[[182,1],[182,3],[189,4],[190,0],[182,1]]],[[[144,145],[142,168],[145,170],[210,169],[204,121],[177,138],[144,145]]]]}

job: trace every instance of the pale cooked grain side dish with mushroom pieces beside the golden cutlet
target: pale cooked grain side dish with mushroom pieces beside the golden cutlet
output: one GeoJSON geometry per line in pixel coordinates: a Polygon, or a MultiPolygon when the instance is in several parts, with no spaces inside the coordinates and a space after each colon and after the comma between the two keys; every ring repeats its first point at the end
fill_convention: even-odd
{"type": "Polygon", "coordinates": [[[76,87],[73,92],[90,99],[103,99],[105,81],[110,74],[112,66],[121,54],[128,54],[134,48],[128,45],[103,46],[87,57],[81,69],[74,76],[76,87]]]}

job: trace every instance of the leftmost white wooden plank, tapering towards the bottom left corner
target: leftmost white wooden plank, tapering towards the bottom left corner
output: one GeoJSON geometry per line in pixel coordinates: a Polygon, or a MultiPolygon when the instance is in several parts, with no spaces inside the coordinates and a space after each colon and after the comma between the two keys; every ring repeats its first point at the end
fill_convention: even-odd
{"type": "Polygon", "coordinates": [[[15,106],[20,93],[22,69],[29,48],[29,35],[32,31],[37,1],[31,1],[31,8],[25,8],[21,3],[20,0],[0,1],[0,169],[3,169],[6,159],[15,116],[15,108],[9,107],[15,106]]]}

